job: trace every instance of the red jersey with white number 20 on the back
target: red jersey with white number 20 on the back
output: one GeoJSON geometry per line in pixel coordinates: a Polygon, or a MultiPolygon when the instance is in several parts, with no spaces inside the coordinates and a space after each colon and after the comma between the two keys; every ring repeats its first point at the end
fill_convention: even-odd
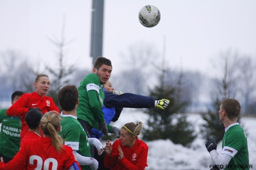
{"type": "Polygon", "coordinates": [[[62,146],[63,149],[58,153],[50,137],[28,140],[10,162],[0,162],[0,170],[68,170],[76,160],[73,149],[67,145],[62,146]]]}

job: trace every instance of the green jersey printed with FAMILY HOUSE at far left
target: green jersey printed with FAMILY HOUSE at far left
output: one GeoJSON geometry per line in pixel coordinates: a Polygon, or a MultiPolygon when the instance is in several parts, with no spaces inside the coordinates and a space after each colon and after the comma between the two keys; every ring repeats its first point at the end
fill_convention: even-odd
{"type": "Polygon", "coordinates": [[[7,116],[7,109],[0,109],[0,153],[8,158],[13,158],[20,150],[20,117],[7,116]]]}

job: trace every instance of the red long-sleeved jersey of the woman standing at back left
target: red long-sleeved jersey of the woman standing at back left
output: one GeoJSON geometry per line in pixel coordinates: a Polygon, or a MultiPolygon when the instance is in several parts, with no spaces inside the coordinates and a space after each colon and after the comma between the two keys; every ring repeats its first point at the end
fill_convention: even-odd
{"type": "Polygon", "coordinates": [[[36,92],[23,94],[21,98],[6,111],[6,115],[8,116],[20,117],[20,139],[22,139],[28,132],[28,125],[26,125],[25,116],[28,112],[28,108],[31,107],[38,107],[41,109],[43,114],[53,110],[60,112],[59,108],[54,104],[54,101],[49,96],[41,97],[36,92]]]}

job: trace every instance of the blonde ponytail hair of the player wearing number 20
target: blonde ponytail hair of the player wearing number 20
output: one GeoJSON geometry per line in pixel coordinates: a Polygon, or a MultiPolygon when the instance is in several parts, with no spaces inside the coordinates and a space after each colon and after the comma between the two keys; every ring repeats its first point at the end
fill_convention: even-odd
{"type": "Polygon", "coordinates": [[[48,111],[44,113],[41,119],[41,127],[44,135],[52,138],[52,145],[60,152],[63,148],[62,138],[58,135],[57,129],[60,127],[60,117],[57,111],[48,111]]]}

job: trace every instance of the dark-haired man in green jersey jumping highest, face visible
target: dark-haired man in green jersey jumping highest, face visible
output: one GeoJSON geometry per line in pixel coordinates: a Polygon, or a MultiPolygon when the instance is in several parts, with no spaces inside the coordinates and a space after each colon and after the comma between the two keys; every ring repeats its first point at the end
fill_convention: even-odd
{"type": "Polygon", "coordinates": [[[111,61],[105,57],[98,57],[92,71],[93,73],[88,74],[78,87],[77,118],[88,137],[92,137],[92,127],[96,122],[98,122],[98,128],[107,136],[108,128],[102,112],[105,97],[102,86],[111,76],[111,61]]]}

